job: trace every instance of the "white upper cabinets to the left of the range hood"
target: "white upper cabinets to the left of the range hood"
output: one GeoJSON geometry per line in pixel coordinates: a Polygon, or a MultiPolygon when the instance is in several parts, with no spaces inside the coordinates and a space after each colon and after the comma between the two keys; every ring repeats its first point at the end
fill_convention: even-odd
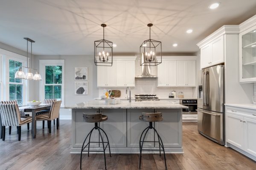
{"type": "Polygon", "coordinates": [[[97,66],[98,87],[135,86],[136,57],[113,57],[112,66],[97,66]]]}

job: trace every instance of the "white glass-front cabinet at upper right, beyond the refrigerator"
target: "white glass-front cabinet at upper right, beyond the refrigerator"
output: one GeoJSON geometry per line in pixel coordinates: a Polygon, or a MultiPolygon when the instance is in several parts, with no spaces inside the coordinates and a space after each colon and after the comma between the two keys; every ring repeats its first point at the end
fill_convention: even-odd
{"type": "Polygon", "coordinates": [[[239,34],[240,82],[256,82],[256,26],[239,34]]]}

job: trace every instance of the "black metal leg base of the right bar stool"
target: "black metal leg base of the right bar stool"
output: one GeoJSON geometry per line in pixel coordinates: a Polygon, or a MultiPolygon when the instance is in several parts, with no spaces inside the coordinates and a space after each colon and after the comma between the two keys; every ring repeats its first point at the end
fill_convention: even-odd
{"type": "MultiPolygon", "coordinates": [[[[163,141],[161,139],[161,137],[159,136],[157,130],[152,126],[152,122],[149,122],[149,126],[146,127],[143,132],[141,133],[141,136],[140,136],[140,165],[141,165],[141,157],[142,157],[142,151],[143,150],[150,150],[150,151],[156,151],[158,150],[159,151],[159,154],[161,156],[161,151],[163,151],[163,156],[164,156],[164,163],[165,163],[165,169],[167,170],[167,165],[166,165],[166,156],[165,156],[165,151],[164,151],[164,147],[163,147],[163,141]],[[146,137],[146,134],[148,133],[148,130],[149,129],[153,129],[155,133],[157,133],[157,137],[158,137],[158,142],[156,141],[145,141],[145,137],[146,137]],[[146,131],[146,132],[145,132],[146,131]],[[143,136],[143,133],[145,132],[144,136],[143,136]],[[143,140],[141,140],[143,136],[143,140]],[[144,142],[154,142],[154,143],[158,143],[159,144],[159,150],[158,149],[143,149],[143,144],[144,142]],[[162,147],[162,149],[161,149],[162,147]]],[[[140,166],[139,166],[139,170],[140,170],[140,166]]]]}

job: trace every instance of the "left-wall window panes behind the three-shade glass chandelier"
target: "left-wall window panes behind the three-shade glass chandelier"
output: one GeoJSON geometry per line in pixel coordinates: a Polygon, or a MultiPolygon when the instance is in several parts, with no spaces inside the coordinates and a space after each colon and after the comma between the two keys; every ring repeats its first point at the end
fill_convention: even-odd
{"type": "Polygon", "coordinates": [[[22,66],[22,62],[9,59],[9,100],[17,100],[23,105],[23,80],[15,79],[15,73],[22,66]]]}

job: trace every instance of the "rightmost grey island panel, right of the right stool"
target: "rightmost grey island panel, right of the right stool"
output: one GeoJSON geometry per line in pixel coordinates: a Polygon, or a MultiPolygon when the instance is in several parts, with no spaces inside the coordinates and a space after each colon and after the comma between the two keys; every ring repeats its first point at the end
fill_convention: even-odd
{"type": "MultiPolygon", "coordinates": [[[[163,140],[164,147],[182,148],[182,109],[155,109],[155,111],[162,112],[163,115],[163,121],[156,122],[155,128],[163,140]]],[[[178,149],[177,152],[181,150],[178,149]]]]}

